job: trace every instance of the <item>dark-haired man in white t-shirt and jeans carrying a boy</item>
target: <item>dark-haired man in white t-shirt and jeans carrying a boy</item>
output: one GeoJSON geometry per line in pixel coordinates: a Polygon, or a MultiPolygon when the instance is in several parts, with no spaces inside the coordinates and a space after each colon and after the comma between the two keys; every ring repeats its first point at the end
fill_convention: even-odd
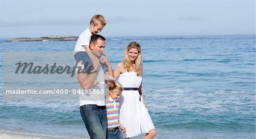
{"type": "Polygon", "coordinates": [[[84,58],[77,61],[77,80],[82,88],[79,92],[80,114],[90,138],[106,138],[105,75],[101,63],[108,66],[110,76],[114,76],[108,59],[101,59],[105,48],[105,38],[94,34],[90,38],[92,57],[84,53],[84,58]]]}

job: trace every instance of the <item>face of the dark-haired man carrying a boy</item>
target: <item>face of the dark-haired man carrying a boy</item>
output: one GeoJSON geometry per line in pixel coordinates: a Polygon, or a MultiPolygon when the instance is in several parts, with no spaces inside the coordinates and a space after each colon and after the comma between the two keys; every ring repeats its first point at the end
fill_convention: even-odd
{"type": "Polygon", "coordinates": [[[96,44],[90,45],[90,48],[92,49],[92,53],[100,58],[105,48],[105,41],[98,39],[96,44]]]}

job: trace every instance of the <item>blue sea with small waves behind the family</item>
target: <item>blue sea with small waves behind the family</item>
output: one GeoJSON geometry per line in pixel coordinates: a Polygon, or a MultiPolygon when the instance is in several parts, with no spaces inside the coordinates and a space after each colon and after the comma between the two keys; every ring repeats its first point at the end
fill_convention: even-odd
{"type": "MultiPolygon", "coordinates": [[[[48,62],[49,68],[61,61],[72,67],[76,41],[6,42],[10,39],[0,39],[0,132],[89,138],[79,99],[51,99],[60,98],[65,90],[48,98],[6,94],[6,89],[28,86],[51,89],[62,84],[59,89],[79,89],[76,75],[48,72],[37,78],[27,69],[15,73],[17,65],[11,63],[44,59],[37,65],[48,62]]],[[[105,51],[113,69],[131,41],[142,47],[144,99],[155,138],[256,138],[254,34],[106,37],[105,51]]]]}

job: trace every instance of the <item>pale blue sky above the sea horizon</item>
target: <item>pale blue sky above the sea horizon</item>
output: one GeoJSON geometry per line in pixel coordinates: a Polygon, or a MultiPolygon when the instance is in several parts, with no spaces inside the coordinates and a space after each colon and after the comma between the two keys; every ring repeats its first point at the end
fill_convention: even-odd
{"type": "Polygon", "coordinates": [[[254,0],[0,0],[0,38],[79,36],[95,14],[103,36],[255,34],[254,0]]]}

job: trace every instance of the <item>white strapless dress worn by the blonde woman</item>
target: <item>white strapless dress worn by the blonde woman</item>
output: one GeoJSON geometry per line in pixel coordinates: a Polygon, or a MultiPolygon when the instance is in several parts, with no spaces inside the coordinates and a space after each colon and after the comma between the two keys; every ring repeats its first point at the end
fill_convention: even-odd
{"type": "MultiPolygon", "coordinates": [[[[137,76],[136,72],[125,72],[119,76],[118,81],[123,88],[139,88],[142,76],[137,76]]],[[[148,133],[155,128],[142,98],[139,101],[139,97],[138,90],[123,90],[118,99],[119,122],[126,128],[126,133],[123,133],[125,138],[148,133]]]]}

